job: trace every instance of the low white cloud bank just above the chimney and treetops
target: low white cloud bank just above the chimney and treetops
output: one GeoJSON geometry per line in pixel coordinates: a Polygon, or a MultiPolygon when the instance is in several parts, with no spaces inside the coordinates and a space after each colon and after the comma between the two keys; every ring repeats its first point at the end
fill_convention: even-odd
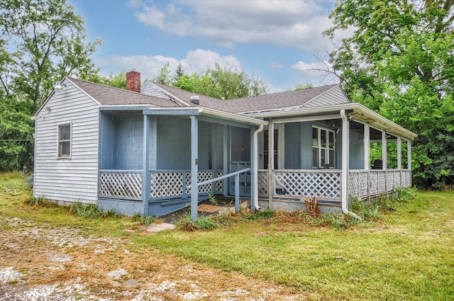
{"type": "Polygon", "coordinates": [[[233,55],[221,56],[218,52],[210,50],[191,50],[187,52],[184,59],[176,59],[175,57],[164,57],[162,55],[146,56],[133,55],[130,57],[111,55],[96,61],[96,65],[101,67],[104,75],[109,72],[118,73],[121,70],[128,72],[135,69],[140,72],[142,79],[152,79],[157,75],[159,70],[169,62],[169,69],[173,72],[177,69],[178,64],[182,64],[184,72],[193,74],[195,72],[204,72],[208,67],[213,68],[217,62],[221,67],[242,68],[241,62],[233,55]],[[108,70],[104,70],[109,68],[108,70]]]}

